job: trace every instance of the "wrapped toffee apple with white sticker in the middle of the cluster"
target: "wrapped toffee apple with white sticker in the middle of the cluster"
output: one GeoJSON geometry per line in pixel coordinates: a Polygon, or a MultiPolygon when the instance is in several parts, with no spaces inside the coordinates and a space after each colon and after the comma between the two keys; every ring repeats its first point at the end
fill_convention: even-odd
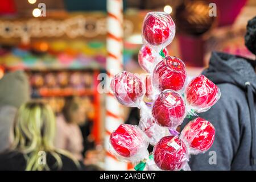
{"type": "Polygon", "coordinates": [[[164,90],[152,107],[152,115],[158,125],[176,129],[185,117],[185,102],[179,93],[164,90]]]}

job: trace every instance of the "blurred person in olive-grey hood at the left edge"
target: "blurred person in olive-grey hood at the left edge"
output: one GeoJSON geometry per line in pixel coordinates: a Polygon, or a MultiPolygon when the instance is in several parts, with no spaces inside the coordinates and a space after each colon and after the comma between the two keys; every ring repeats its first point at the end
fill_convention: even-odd
{"type": "Polygon", "coordinates": [[[0,79],[0,153],[10,147],[16,111],[29,100],[29,93],[28,78],[22,71],[6,73],[0,79]]]}

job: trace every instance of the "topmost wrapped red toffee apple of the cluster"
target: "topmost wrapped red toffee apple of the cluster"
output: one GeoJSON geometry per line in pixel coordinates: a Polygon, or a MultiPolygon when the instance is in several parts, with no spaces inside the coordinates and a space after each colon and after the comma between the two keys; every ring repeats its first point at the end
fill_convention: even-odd
{"type": "Polygon", "coordinates": [[[169,14],[151,12],[144,19],[142,31],[144,40],[152,46],[159,46],[168,40],[170,44],[175,35],[175,24],[169,14]]]}

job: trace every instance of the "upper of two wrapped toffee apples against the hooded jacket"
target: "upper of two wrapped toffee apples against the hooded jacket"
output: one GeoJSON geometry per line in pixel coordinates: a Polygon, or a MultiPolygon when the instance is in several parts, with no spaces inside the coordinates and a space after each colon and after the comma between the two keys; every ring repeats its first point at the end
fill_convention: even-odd
{"type": "Polygon", "coordinates": [[[220,96],[218,86],[204,75],[193,78],[185,90],[185,101],[189,109],[193,109],[197,113],[209,110],[220,96]]]}

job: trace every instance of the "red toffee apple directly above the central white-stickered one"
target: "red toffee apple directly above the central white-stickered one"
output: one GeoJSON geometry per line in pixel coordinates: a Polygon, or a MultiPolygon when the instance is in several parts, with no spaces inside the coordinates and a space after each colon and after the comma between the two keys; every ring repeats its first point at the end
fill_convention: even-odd
{"type": "Polygon", "coordinates": [[[160,92],[166,89],[179,91],[186,79],[187,72],[183,61],[175,56],[167,56],[156,65],[152,81],[160,92]]]}

